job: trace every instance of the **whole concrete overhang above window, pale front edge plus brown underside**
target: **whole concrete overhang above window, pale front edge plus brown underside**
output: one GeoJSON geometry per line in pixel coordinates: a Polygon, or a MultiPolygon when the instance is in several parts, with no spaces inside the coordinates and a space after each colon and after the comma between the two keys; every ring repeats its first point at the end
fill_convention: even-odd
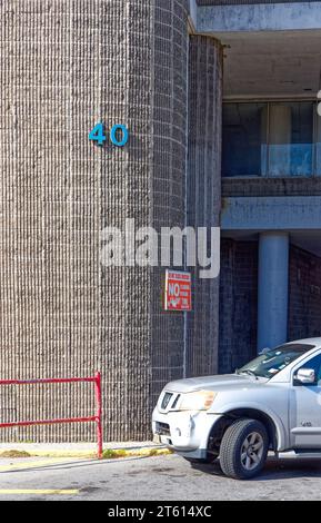
{"type": "Polygon", "coordinates": [[[190,0],[190,18],[195,32],[225,46],[225,98],[317,97],[321,1],[190,0]]]}

